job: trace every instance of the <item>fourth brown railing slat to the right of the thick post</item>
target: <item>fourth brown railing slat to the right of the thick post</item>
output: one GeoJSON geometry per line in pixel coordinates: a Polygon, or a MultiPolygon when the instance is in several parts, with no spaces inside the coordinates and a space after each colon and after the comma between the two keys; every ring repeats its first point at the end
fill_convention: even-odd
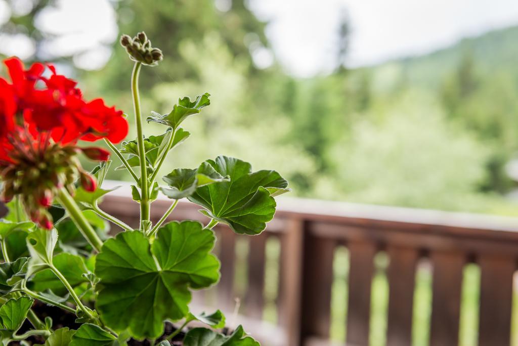
{"type": "Polygon", "coordinates": [[[430,258],[434,266],[430,346],[456,346],[466,258],[457,252],[433,252],[430,258]]]}

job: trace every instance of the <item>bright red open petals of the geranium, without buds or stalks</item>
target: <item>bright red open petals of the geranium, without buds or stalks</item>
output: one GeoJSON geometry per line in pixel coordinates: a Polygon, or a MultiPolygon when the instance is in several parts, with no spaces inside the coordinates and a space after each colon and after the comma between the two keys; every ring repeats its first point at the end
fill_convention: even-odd
{"type": "MultiPolygon", "coordinates": [[[[27,126],[32,135],[49,133],[54,142],[63,145],[101,138],[118,143],[126,137],[128,123],[122,111],[107,107],[100,98],[87,102],[77,83],[56,74],[52,65],[48,66],[52,74],[46,78],[41,63],[27,70],[17,58],[4,63],[12,83],[0,78],[0,138],[5,139],[17,125],[27,126]]],[[[6,149],[3,143],[0,160],[8,161],[6,149]]]]}

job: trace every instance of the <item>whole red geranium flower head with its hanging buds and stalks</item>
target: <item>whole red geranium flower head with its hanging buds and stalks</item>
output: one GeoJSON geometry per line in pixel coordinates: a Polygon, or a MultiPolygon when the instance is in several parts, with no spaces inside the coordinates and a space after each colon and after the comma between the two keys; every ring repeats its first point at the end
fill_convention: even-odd
{"type": "Polygon", "coordinates": [[[41,207],[51,204],[56,189],[73,190],[78,178],[85,189],[96,188],[75,154],[101,161],[109,157],[100,148],[78,148],[77,141],[107,138],[118,143],[126,137],[128,123],[122,111],[107,107],[103,99],[85,100],[77,83],[58,75],[52,65],[46,77],[44,64],[25,70],[16,57],[4,63],[11,83],[0,78],[0,197],[8,201],[20,194],[33,219],[49,227],[48,213],[41,207]]]}

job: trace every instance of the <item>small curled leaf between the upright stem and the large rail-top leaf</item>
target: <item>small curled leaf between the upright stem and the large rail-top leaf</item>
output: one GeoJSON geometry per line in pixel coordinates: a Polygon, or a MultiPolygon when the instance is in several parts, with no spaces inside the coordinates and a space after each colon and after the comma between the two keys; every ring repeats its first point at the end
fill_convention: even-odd
{"type": "Polygon", "coordinates": [[[198,169],[177,168],[162,179],[170,186],[170,189],[161,188],[161,191],[172,199],[190,196],[200,186],[229,181],[228,177],[223,177],[207,162],[202,163],[198,169]]]}

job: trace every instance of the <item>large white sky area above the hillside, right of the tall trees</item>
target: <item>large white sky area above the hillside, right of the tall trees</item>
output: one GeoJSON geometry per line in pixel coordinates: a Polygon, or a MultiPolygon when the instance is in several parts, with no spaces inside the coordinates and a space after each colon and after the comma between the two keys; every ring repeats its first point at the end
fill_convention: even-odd
{"type": "Polygon", "coordinates": [[[342,8],[351,19],[348,66],[425,54],[518,23],[516,0],[251,0],[286,70],[297,76],[336,63],[342,8]]]}

